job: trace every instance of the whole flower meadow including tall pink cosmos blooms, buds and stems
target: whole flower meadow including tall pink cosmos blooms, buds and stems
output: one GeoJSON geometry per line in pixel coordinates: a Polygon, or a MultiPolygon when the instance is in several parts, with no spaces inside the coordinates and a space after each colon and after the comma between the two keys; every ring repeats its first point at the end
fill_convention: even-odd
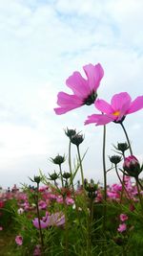
{"type": "Polygon", "coordinates": [[[92,176],[90,180],[86,178],[86,152],[81,154],[84,135],[65,128],[68,152],[51,156],[54,172],[39,171],[39,175],[30,177],[32,185],[23,184],[21,189],[14,186],[11,191],[0,193],[0,238],[7,241],[10,236],[8,254],[6,242],[0,255],[143,255],[143,164],[137,159],[124,126],[128,115],[142,110],[143,96],[132,100],[128,92],[120,92],[108,103],[98,98],[104,76],[101,64],[88,64],[83,69],[86,79],[73,72],[66,81],[72,94],[58,93],[54,113],[62,115],[82,105],[94,105],[95,112],[85,117],[83,125],[103,129],[103,185],[92,176]],[[120,126],[125,140],[117,142],[113,146],[115,154],[107,156],[106,126],[111,122],[120,126]],[[108,167],[107,158],[111,163],[108,167]],[[66,172],[65,162],[69,166],[66,172]],[[107,184],[110,171],[118,178],[112,185],[107,184]]]}

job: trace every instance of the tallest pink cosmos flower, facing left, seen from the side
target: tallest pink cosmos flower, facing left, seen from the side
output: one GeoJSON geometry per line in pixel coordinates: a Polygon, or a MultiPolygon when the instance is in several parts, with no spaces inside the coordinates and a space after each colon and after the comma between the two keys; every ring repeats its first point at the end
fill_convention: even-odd
{"type": "Polygon", "coordinates": [[[75,71],[66,81],[67,86],[72,89],[72,95],[65,92],[58,93],[57,105],[59,107],[54,108],[57,115],[65,114],[81,105],[92,105],[94,103],[97,97],[96,90],[104,76],[104,71],[99,63],[85,65],[83,69],[87,80],[75,71]]]}

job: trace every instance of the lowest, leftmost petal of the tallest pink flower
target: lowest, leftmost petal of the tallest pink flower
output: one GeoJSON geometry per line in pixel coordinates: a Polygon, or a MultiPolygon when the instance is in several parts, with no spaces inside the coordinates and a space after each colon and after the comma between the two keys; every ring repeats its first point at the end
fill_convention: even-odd
{"type": "Polygon", "coordinates": [[[57,105],[60,107],[54,108],[54,111],[57,115],[67,113],[68,111],[83,105],[81,99],[76,95],[69,95],[65,92],[59,92],[57,95],[57,105]]]}

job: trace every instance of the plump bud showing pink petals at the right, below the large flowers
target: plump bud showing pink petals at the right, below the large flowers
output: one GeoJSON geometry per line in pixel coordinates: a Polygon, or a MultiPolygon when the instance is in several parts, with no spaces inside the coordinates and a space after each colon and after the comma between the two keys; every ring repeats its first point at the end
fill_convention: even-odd
{"type": "Polygon", "coordinates": [[[125,158],[123,169],[125,171],[125,175],[133,176],[135,178],[138,177],[138,175],[143,170],[143,165],[140,167],[140,164],[137,160],[137,158],[134,155],[130,155],[125,158]]]}

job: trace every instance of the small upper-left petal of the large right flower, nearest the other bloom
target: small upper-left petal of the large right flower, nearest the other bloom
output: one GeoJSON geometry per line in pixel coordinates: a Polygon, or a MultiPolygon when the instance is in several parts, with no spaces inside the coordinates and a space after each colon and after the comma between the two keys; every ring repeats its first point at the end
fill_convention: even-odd
{"type": "Polygon", "coordinates": [[[112,114],[112,106],[108,104],[106,101],[97,99],[94,105],[99,111],[105,114],[112,114]]]}

